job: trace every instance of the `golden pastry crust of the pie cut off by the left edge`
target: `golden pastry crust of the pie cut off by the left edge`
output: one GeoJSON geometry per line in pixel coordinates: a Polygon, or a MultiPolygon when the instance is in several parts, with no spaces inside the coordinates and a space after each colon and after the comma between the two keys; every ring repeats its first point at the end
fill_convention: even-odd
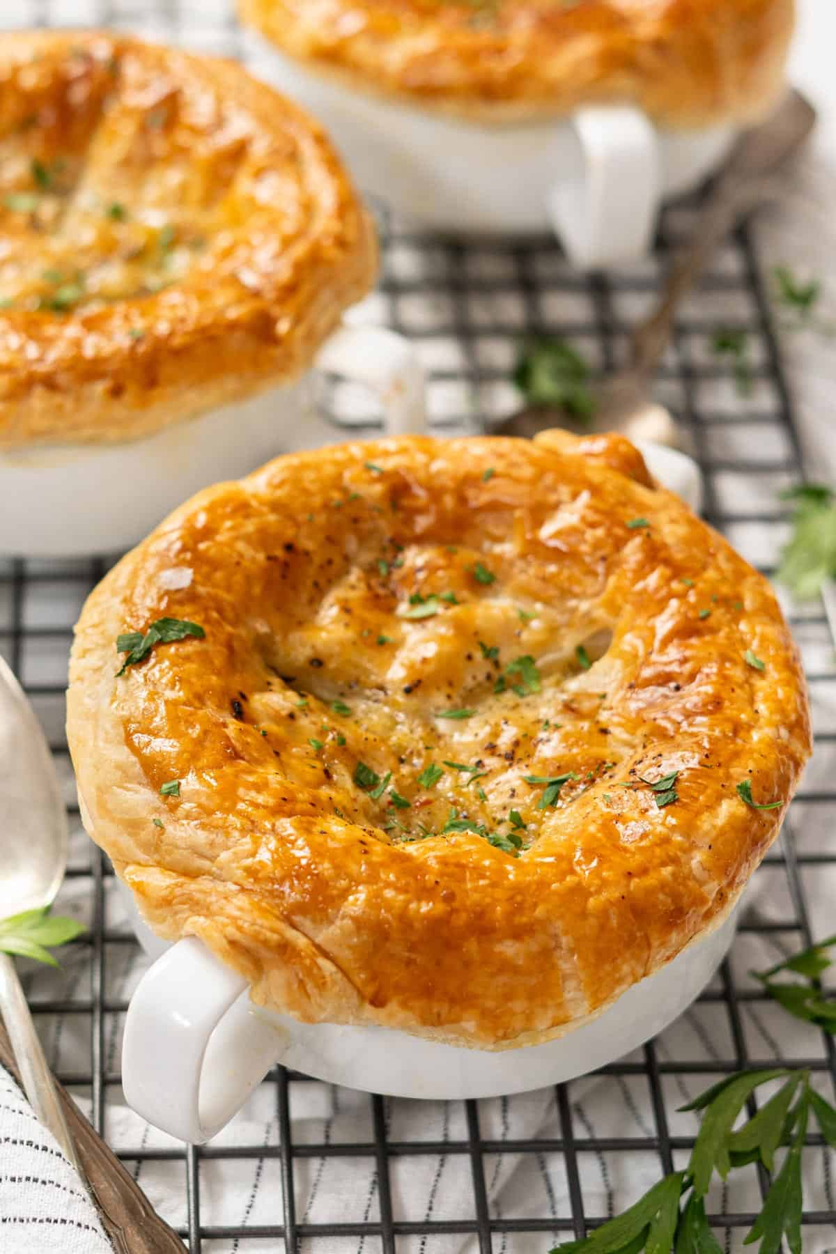
{"type": "Polygon", "coordinates": [[[322,130],[233,61],[0,48],[0,448],[123,440],[290,380],[370,287],[322,130]]]}

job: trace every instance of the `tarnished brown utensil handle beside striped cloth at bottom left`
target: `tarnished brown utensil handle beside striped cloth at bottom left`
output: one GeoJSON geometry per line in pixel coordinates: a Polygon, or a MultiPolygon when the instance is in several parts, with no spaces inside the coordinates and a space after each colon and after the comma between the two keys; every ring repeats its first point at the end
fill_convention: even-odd
{"type": "MultiPolygon", "coordinates": [[[[0,956],[1,957],[1,956],[0,956]]],[[[23,1085],[11,1041],[0,1023],[0,1063],[23,1085]]],[[[183,1243],[153,1210],[133,1176],[110,1150],[58,1080],[51,1077],[68,1136],[85,1172],[103,1226],[117,1254],[184,1254],[183,1243]]]]}

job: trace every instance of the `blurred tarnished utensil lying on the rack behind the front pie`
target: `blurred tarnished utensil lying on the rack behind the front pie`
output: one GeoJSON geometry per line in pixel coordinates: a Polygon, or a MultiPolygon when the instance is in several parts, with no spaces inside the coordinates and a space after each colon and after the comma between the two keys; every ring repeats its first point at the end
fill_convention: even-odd
{"type": "Polygon", "coordinates": [[[816,110],[810,102],[800,92],[790,90],[766,122],[743,134],[697,214],[691,242],[671,267],[656,308],[633,330],[630,364],[598,389],[590,420],[578,424],[564,410],[528,406],[491,426],[491,434],[530,439],[549,426],[565,426],[579,435],[622,431],[630,439],[676,446],[679,443],[677,425],[663,405],[651,400],[649,393],[656,367],[671,339],[677,306],[731,228],[763,201],[780,194],[777,176],[815,122],[816,110]]]}

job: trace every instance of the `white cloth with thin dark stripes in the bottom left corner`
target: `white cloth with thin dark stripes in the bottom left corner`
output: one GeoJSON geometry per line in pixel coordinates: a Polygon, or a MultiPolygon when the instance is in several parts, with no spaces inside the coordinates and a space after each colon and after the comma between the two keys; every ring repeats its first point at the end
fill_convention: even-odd
{"type": "Polygon", "coordinates": [[[0,1250],[4,1254],[113,1254],[75,1171],[3,1067],[0,1250]]]}

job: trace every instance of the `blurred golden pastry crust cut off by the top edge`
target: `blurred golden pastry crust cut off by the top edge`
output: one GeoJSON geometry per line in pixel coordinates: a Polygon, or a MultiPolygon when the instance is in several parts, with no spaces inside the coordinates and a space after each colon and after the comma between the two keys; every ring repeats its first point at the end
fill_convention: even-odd
{"type": "Polygon", "coordinates": [[[750,122],[780,90],[793,0],[238,0],[283,51],[479,122],[634,104],[750,122]]]}

